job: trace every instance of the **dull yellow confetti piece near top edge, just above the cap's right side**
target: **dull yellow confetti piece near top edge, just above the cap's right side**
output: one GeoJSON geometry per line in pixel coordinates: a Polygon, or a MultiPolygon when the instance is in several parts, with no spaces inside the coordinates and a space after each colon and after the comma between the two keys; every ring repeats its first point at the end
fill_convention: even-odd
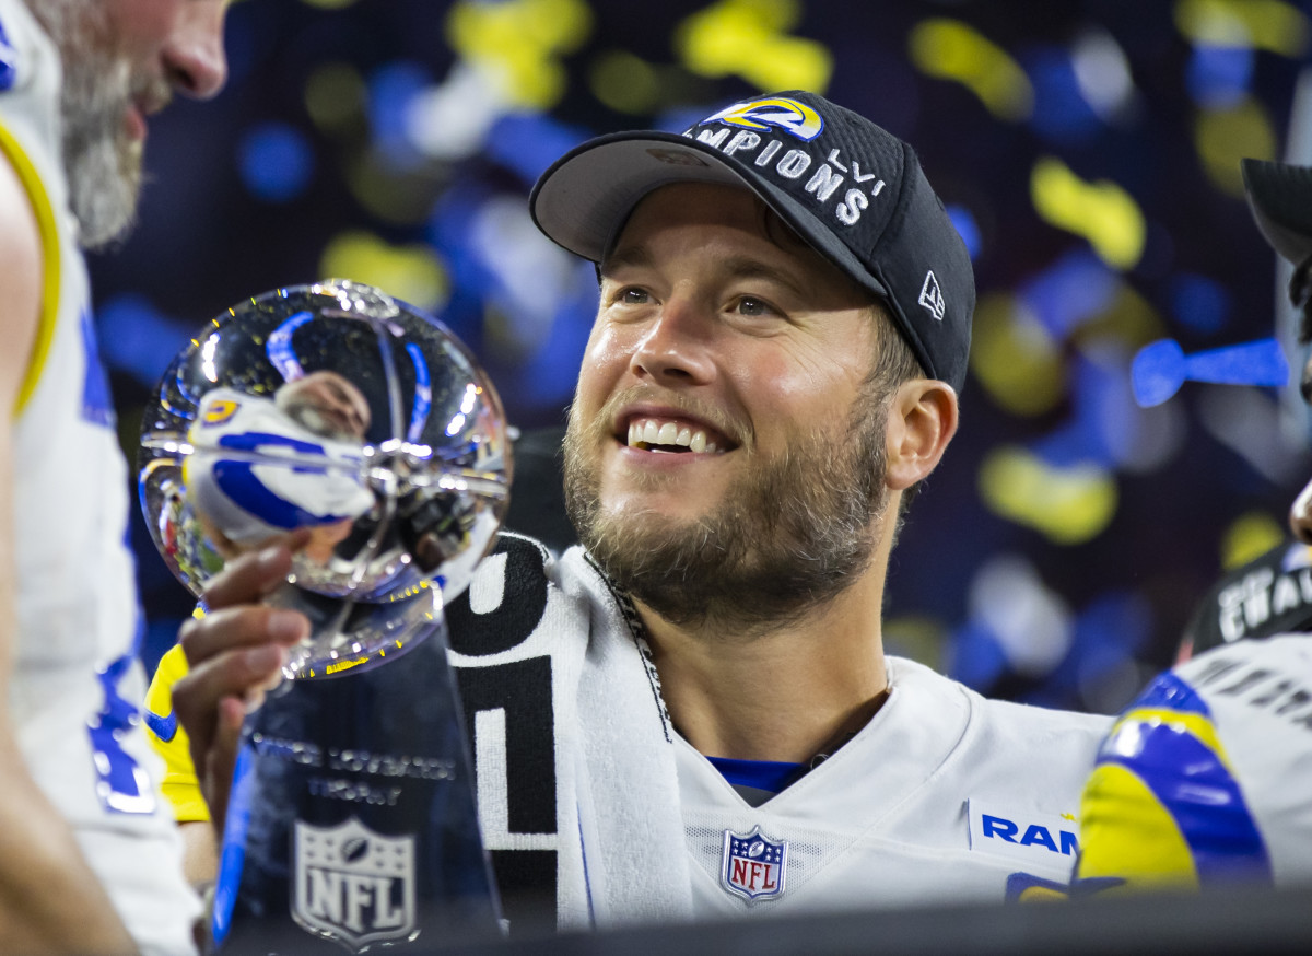
{"type": "Polygon", "coordinates": [[[912,29],[911,59],[926,76],[956,80],[1000,120],[1019,122],[1034,112],[1034,87],[1002,47],[974,26],[932,17],[912,29]]]}

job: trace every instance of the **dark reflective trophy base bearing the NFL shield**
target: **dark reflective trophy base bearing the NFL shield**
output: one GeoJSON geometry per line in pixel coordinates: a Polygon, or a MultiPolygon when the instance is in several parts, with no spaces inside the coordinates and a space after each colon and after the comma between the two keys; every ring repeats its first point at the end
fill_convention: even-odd
{"type": "Polygon", "coordinates": [[[388,667],[286,682],[248,718],[219,952],[432,951],[500,935],[446,642],[425,638],[388,667]]]}

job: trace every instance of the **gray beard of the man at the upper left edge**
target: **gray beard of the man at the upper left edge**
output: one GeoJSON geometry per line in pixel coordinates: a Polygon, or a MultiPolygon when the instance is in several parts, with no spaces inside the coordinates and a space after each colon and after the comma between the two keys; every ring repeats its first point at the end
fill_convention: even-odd
{"type": "Polygon", "coordinates": [[[131,71],[114,54],[102,0],[26,0],[59,47],[64,173],[79,243],[102,248],[136,219],[142,160],[123,130],[131,71]]]}

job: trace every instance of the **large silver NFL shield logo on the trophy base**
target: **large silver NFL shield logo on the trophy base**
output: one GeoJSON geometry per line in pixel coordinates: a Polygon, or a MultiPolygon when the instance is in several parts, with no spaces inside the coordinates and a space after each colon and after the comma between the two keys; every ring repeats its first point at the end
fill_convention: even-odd
{"type": "Polygon", "coordinates": [[[415,838],[297,821],[293,918],[352,952],[415,931],[415,838]]]}

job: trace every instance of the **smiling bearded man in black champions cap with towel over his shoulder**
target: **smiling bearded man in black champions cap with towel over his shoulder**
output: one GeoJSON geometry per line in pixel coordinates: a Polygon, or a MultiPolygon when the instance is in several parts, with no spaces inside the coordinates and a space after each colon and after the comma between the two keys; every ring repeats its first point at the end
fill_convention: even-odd
{"type": "MultiPolygon", "coordinates": [[[[584,546],[504,536],[447,615],[508,900],[537,881],[559,926],[605,927],[1063,881],[1107,721],[883,653],[975,301],[911,147],[791,91],[590,141],[530,204],[597,263],[600,306],[565,440],[584,546]]],[[[236,562],[211,607],[286,558],[236,562]]],[[[216,818],[243,697],[276,672],[247,613],[188,625],[173,695],[216,818]]]]}

